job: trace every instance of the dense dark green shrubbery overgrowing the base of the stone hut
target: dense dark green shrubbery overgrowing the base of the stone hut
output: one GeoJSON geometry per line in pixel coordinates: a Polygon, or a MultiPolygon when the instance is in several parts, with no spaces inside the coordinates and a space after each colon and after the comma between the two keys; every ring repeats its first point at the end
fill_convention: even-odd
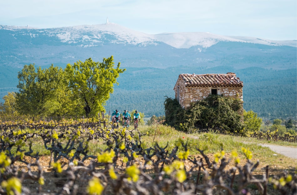
{"type": "Polygon", "coordinates": [[[221,95],[209,95],[193,103],[187,110],[181,108],[176,99],[165,100],[165,123],[184,132],[195,130],[246,135],[243,128],[239,98],[228,98],[221,95]]]}

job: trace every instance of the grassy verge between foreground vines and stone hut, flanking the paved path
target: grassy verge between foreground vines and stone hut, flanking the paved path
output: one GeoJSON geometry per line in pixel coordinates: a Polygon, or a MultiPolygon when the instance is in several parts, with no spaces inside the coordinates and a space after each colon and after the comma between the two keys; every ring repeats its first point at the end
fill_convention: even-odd
{"type": "Polygon", "coordinates": [[[277,154],[277,156],[275,156],[275,152],[267,147],[259,145],[259,143],[264,143],[296,148],[297,143],[257,140],[257,138],[237,137],[214,133],[186,134],[164,125],[155,125],[150,127],[141,126],[140,132],[147,134],[146,136],[143,136],[142,139],[144,142],[148,143],[148,145],[152,146],[153,142],[158,142],[160,146],[164,147],[168,143],[168,150],[170,150],[169,148],[174,147],[174,143],[178,138],[186,139],[188,141],[190,155],[200,154],[196,148],[203,149],[209,156],[221,151],[221,148],[223,148],[226,156],[230,156],[230,153],[236,151],[240,158],[244,160],[245,157],[241,150],[242,148],[249,148],[253,154],[252,161],[256,163],[259,160],[260,162],[260,168],[258,171],[261,173],[264,173],[263,168],[267,165],[271,168],[271,174],[280,173],[284,169],[294,172],[297,167],[296,159],[289,158],[281,154],[277,154]]]}

